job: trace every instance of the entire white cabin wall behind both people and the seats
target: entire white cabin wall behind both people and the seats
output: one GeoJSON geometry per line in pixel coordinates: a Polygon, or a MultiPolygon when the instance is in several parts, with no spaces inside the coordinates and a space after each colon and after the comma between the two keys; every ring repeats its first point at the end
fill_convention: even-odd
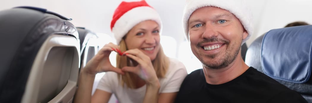
{"type": "MultiPolygon", "coordinates": [[[[16,6],[36,6],[54,11],[68,18],[77,27],[85,27],[96,33],[112,36],[110,21],[115,8],[122,0],[5,0],[0,10],[16,6]]],[[[126,0],[137,1],[137,0],[126,0]]],[[[160,14],[164,36],[177,40],[177,52],[185,41],[182,28],[183,7],[186,0],[146,0],[160,14]]],[[[248,0],[253,11],[254,33],[246,43],[249,46],[256,37],[275,29],[283,28],[294,21],[312,24],[311,0],[248,0]]],[[[142,14],[144,15],[144,14],[142,14]]],[[[178,56],[178,54],[176,55],[178,56]]]]}

